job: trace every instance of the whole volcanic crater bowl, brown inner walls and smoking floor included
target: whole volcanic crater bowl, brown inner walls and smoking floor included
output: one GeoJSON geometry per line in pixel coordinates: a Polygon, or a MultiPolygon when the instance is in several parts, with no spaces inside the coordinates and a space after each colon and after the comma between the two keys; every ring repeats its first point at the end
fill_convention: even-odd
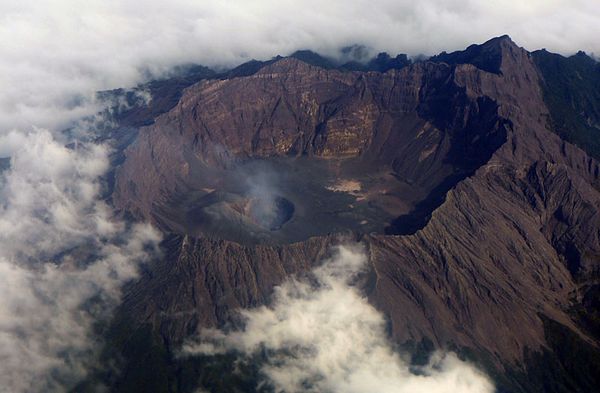
{"type": "Polygon", "coordinates": [[[449,81],[450,67],[421,80],[431,67],[342,72],[285,58],[197,83],[140,129],[116,205],[169,232],[243,244],[414,233],[510,127],[493,101],[449,81]],[[460,116],[438,108],[442,87],[460,116]]]}

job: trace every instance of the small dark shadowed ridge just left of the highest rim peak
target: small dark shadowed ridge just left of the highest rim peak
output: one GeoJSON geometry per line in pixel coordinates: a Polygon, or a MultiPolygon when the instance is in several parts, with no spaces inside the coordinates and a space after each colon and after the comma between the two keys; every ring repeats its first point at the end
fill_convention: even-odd
{"type": "Polygon", "coordinates": [[[472,64],[475,67],[501,74],[502,46],[505,44],[515,45],[508,35],[492,38],[483,44],[473,44],[463,51],[452,53],[442,52],[431,57],[429,60],[436,63],[448,64],[472,64]]]}

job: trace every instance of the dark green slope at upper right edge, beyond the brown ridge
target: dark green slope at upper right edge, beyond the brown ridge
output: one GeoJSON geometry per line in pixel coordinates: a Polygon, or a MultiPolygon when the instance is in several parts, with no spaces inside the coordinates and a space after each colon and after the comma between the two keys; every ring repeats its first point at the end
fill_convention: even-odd
{"type": "Polygon", "coordinates": [[[542,75],[550,128],[600,159],[600,64],[584,52],[564,57],[542,49],[532,56],[542,75]]]}

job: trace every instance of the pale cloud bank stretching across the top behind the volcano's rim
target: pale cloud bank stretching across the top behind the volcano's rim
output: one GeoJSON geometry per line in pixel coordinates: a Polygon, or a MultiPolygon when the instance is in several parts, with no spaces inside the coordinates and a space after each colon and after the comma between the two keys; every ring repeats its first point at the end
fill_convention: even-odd
{"type": "Polygon", "coordinates": [[[97,90],[175,64],[231,66],[297,49],[436,54],[510,34],[528,49],[600,53],[596,0],[22,0],[0,3],[0,129],[93,113],[97,90]]]}

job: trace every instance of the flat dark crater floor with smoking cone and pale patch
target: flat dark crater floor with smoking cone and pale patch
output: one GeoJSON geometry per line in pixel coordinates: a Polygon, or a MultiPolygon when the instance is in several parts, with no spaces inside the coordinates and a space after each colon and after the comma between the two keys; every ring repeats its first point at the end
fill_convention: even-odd
{"type": "Polygon", "coordinates": [[[251,159],[198,164],[157,219],[168,229],[240,243],[291,243],[328,233],[383,233],[424,191],[355,159],[251,159]]]}

